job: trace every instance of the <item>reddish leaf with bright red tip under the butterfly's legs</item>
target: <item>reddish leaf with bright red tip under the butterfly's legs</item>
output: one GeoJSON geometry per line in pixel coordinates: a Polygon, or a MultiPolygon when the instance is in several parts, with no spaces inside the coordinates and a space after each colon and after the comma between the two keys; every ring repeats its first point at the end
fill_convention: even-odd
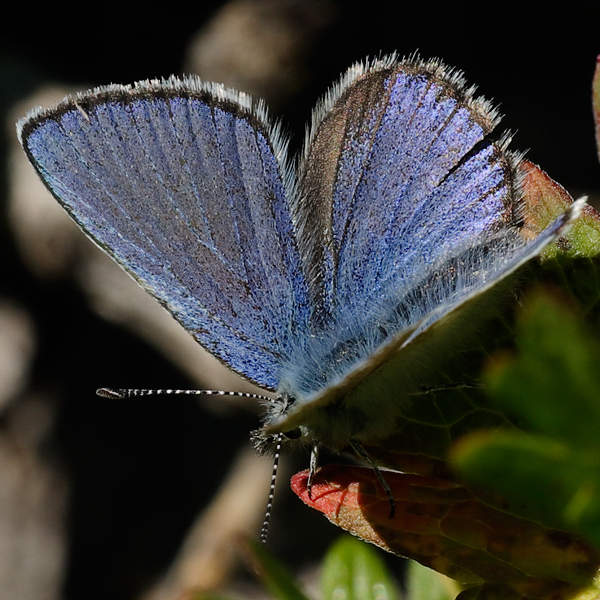
{"type": "Polygon", "coordinates": [[[444,479],[385,471],[389,501],[368,468],[328,465],[292,478],[292,489],[335,525],[417,560],[462,583],[509,585],[519,594],[559,600],[589,586],[600,557],[578,537],[509,515],[444,479]]]}

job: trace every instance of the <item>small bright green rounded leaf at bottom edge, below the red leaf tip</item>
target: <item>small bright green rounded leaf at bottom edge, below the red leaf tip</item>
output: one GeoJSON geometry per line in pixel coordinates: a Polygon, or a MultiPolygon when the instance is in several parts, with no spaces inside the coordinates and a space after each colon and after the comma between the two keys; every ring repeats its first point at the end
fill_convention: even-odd
{"type": "Polygon", "coordinates": [[[329,550],[321,575],[323,600],[397,600],[400,593],[377,551],[350,536],[329,550]]]}

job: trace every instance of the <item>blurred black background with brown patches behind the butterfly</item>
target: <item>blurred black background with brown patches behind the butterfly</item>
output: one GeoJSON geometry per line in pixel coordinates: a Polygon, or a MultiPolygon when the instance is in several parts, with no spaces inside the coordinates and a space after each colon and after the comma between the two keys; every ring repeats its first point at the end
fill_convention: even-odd
{"type": "MultiPolygon", "coordinates": [[[[146,398],[111,387],[249,389],[64,218],[16,144],[14,121],[68,91],[194,72],[264,97],[292,137],[354,61],[441,57],[493,98],[573,194],[594,194],[590,85],[600,5],[371,0],[15,4],[0,36],[0,598],[174,598],[250,593],[235,534],[257,535],[269,460],[253,457],[251,402],[146,398]],[[216,497],[221,485],[229,487],[216,497]],[[230,575],[233,574],[233,575],[230,575]],[[235,576],[234,576],[235,575],[235,576]]],[[[310,572],[337,532],[287,489],[272,549],[310,572]]],[[[400,561],[394,560],[398,565],[400,561]]]]}

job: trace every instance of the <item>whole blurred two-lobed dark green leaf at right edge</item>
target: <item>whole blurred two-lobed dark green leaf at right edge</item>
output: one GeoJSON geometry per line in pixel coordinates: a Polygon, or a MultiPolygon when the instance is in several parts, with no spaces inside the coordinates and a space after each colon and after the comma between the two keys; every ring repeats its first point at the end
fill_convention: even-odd
{"type": "Polygon", "coordinates": [[[512,509],[600,547],[600,340],[556,294],[530,295],[517,355],[497,357],[489,392],[526,431],[479,432],[455,448],[468,480],[512,509]]]}

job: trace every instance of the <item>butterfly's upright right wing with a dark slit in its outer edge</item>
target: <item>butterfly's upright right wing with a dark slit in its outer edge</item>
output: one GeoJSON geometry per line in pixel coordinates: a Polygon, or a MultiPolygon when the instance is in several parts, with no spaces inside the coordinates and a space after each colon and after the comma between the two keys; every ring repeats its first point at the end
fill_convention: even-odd
{"type": "Polygon", "coordinates": [[[489,139],[495,111],[460,78],[435,62],[384,62],[340,92],[315,128],[301,182],[330,188],[319,196],[330,198],[320,210],[331,227],[323,295],[334,313],[352,305],[368,314],[502,225],[500,236],[519,244],[515,161],[489,139]],[[332,129],[342,132],[335,147],[332,129]],[[334,177],[315,177],[333,162],[334,177]]]}

